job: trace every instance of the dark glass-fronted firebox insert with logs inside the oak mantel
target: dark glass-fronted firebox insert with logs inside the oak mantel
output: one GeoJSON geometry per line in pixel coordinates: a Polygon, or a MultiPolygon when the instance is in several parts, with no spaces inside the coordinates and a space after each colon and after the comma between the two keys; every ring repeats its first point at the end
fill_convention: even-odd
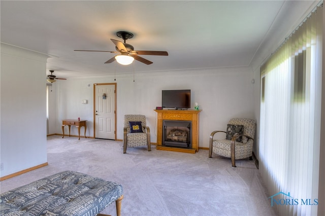
{"type": "Polygon", "coordinates": [[[163,120],[163,146],[192,148],[191,121],[163,120]]]}

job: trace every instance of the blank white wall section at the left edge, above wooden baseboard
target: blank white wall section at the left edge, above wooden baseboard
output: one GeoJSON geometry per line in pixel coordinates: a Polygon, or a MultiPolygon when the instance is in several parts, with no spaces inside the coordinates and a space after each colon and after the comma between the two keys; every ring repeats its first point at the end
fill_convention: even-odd
{"type": "Polygon", "coordinates": [[[1,176],[47,162],[47,57],[1,44],[1,176]]]}

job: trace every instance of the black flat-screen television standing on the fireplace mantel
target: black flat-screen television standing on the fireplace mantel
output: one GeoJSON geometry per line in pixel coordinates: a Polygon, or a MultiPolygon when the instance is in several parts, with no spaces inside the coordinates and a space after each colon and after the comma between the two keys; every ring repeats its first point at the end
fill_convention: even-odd
{"type": "Polygon", "coordinates": [[[164,108],[189,109],[191,107],[191,90],[163,90],[161,106],[164,108]]]}

